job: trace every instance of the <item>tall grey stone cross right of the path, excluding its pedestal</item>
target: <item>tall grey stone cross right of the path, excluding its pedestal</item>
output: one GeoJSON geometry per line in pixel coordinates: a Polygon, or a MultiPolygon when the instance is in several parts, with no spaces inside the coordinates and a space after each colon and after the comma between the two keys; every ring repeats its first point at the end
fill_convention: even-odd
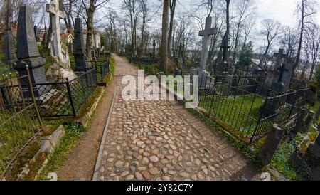
{"type": "Polygon", "coordinates": [[[209,43],[210,43],[210,36],[216,35],[218,33],[217,28],[211,28],[211,23],[212,23],[212,17],[207,17],[206,18],[206,26],[203,31],[199,32],[199,36],[203,36],[203,45],[202,45],[202,51],[201,51],[201,63],[200,63],[200,68],[201,72],[206,71],[206,65],[207,65],[207,60],[209,56],[209,43]]]}

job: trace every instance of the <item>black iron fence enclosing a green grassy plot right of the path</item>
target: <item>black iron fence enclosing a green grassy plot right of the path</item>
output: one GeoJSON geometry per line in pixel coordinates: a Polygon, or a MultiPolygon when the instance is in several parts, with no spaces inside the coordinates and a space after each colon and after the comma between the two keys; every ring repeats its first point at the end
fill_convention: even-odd
{"type": "Polygon", "coordinates": [[[207,75],[200,83],[199,107],[248,143],[267,135],[274,123],[282,125],[297,116],[310,90],[265,92],[265,78],[251,75],[207,75]],[[274,112],[265,112],[272,105],[274,112]]]}

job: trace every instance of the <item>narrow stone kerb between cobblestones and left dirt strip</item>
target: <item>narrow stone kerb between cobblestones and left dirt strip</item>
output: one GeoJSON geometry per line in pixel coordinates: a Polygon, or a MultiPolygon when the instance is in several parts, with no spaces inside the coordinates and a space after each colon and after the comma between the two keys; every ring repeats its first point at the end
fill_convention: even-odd
{"type": "Polygon", "coordinates": [[[102,139],[101,139],[101,143],[100,143],[100,147],[99,147],[99,153],[98,153],[98,156],[97,156],[97,161],[95,163],[95,171],[94,171],[94,174],[92,176],[92,181],[97,181],[99,167],[100,167],[101,159],[102,159],[102,152],[103,152],[103,149],[105,147],[105,139],[106,139],[106,136],[107,136],[108,127],[110,125],[112,110],[113,110],[113,107],[114,107],[114,100],[115,100],[116,96],[117,96],[117,87],[115,87],[115,89],[114,89],[114,96],[113,96],[113,99],[112,99],[112,104],[110,106],[108,119],[107,119],[107,122],[105,124],[105,130],[104,130],[103,135],[102,135],[102,139]]]}

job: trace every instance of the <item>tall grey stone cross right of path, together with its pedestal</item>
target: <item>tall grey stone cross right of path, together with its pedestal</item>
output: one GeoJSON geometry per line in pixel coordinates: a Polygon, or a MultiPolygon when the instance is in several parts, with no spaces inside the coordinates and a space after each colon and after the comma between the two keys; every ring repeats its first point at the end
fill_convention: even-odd
{"type": "MultiPolygon", "coordinates": [[[[209,44],[210,44],[210,36],[216,35],[218,33],[217,28],[211,28],[212,17],[208,16],[206,18],[206,26],[203,31],[199,31],[199,36],[203,36],[203,44],[201,51],[201,62],[200,62],[200,83],[208,83],[204,79],[210,79],[210,75],[206,72],[206,65],[209,56],[209,44]]],[[[202,84],[201,84],[202,85],[202,84]]],[[[201,88],[207,88],[207,86],[202,85],[201,88]]]]}

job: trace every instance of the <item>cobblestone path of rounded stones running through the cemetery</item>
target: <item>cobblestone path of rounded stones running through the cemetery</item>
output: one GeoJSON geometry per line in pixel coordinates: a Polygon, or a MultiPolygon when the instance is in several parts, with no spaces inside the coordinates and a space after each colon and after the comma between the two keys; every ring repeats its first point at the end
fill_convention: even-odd
{"type": "Polygon", "coordinates": [[[124,102],[121,78],[137,69],[115,56],[117,94],[94,180],[257,180],[225,138],[178,102],[124,102]]]}

